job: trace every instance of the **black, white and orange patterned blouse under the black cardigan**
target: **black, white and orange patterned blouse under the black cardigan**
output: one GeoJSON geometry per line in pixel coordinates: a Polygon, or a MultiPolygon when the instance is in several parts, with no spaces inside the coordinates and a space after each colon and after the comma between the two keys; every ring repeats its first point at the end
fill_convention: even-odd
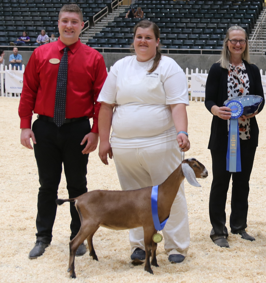
{"type": "MultiPolygon", "coordinates": [[[[230,64],[230,70],[228,70],[227,87],[228,99],[249,94],[249,79],[243,61],[240,66],[233,66],[230,64]]],[[[230,120],[228,120],[228,131],[229,124],[230,120]]],[[[240,139],[250,139],[250,118],[238,118],[238,126],[240,139]]]]}

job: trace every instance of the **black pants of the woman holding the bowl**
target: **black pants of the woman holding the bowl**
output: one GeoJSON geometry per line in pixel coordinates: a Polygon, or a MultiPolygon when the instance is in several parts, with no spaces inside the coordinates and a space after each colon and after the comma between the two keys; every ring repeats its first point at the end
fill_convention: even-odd
{"type": "Polygon", "coordinates": [[[212,240],[228,237],[225,226],[225,204],[232,175],[230,228],[233,232],[247,227],[249,179],[256,147],[249,140],[240,139],[241,172],[226,171],[226,151],[211,150],[213,180],[209,201],[212,240]]]}

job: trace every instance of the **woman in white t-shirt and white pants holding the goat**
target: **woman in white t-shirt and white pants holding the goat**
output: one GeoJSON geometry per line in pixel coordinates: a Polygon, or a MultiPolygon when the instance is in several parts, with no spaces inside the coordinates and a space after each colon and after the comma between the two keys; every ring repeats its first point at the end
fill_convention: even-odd
{"type": "MultiPolygon", "coordinates": [[[[161,55],[159,41],[156,24],[138,23],[136,55],[114,64],[98,97],[99,156],[104,164],[107,155],[114,157],[122,190],[161,184],[180,165],[180,148],[190,148],[187,80],[173,59],[161,55]]],[[[162,232],[169,261],[182,262],[190,241],[184,182],[162,232]]],[[[143,228],[130,229],[129,238],[132,263],[140,264],[145,259],[143,228]]]]}

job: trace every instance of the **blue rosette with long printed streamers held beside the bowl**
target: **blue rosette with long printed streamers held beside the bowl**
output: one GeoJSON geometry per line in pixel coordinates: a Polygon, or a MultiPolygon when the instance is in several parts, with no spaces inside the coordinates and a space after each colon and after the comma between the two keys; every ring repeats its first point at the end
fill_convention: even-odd
{"type": "Polygon", "coordinates": [[[244,108],[237,100],[232,100],[225,106],[231,108],[226,170],[229,172],[241,172],[238,118],[242,115],[244,108]]]}

